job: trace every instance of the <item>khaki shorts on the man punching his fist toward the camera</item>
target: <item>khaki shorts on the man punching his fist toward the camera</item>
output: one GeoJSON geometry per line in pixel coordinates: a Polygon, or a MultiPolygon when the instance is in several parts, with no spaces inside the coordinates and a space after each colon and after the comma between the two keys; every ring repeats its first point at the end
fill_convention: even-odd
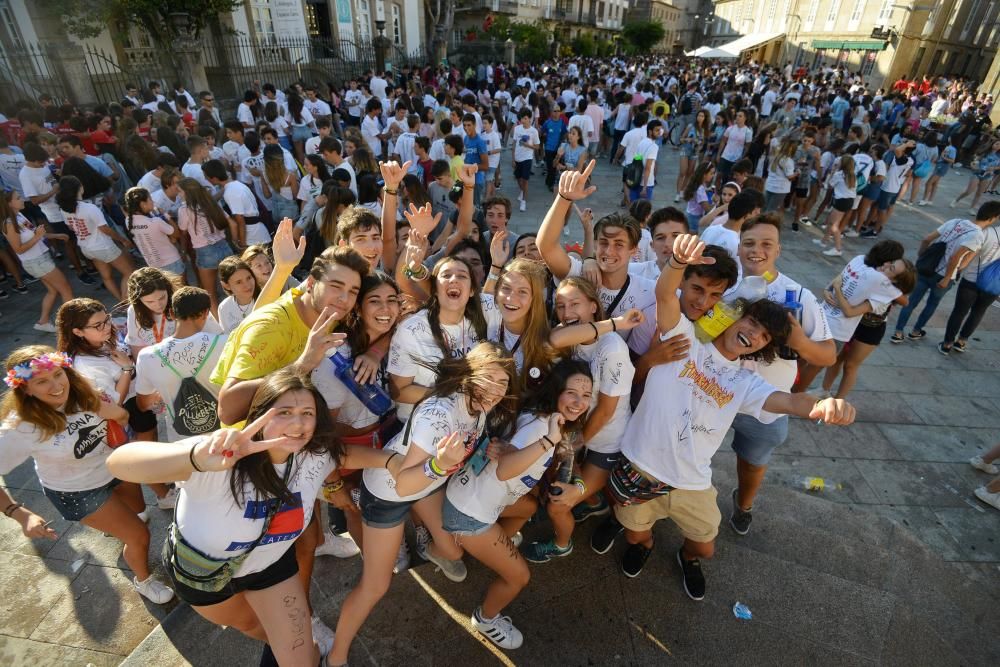
{"type": "Polygon", "coordinates": [[[638,505],[615,505],[615,517],[635,532],[652,529],[660,519],[671,519],[685,538],[692,542],[711,542],[719,534],[722,522],[717,495],[714,486],[698,491],[674,489],[638,505]]]}

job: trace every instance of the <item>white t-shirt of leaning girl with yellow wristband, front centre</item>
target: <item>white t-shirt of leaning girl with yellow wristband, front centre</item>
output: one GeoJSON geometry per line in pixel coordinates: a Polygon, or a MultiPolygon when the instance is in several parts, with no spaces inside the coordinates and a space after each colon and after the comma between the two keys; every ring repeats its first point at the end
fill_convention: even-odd
{"type": "MultiPolygon", "coordinates": [[[[385,446],[385,451],[397,452],[406,456],[410,445],[416,445],[430,456],[437,454],[437,445],[442,438],[451,433],[460,433],[465,439],[466,455],[475,449],[479,437],[486,425],[483,415],[469,414],[468,400],[465,394],[450,396],[432,396],[421,402],[413,412],[409,424],[409,441],[406,441],[407,429],[400,431],[395,438],[385,446]]],[[[434,480],[422,491],[409,496],[396,493],[396,480],[385,468],[366,468],[364,473],[365,487],[373,495],[391,502],[419,500],[426,498],[435,489],[447,482],[447,478],[434,480]]]]}

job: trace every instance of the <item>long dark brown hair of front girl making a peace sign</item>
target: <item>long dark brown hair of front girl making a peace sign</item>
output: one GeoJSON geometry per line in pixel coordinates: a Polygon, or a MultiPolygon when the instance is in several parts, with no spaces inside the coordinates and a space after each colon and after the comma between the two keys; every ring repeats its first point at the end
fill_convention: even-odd
{"type": "MultiPolygon", "coordinates": [[[[282,395],[290,391],[309,392],[313,400],[316,401],[316,428],[313,430],[312,438],[301,451],[312,455],[329,454],[338,466],[341,465],[344,458],[344,446],[335,433],[333,419],[330,417],[330,410],[327,408],[326,401],[323,400],[323,395],[313,386],[308,376],[298,375],[291,368],[283,368],[271,373],[257,388],[253,400],[250,402],[247,422],[251,423],[262,416],[282,395]]],[[[253,439],[263,440],[263,429],[258,431],[253,439]]],[[[287,465],[295,465],[295,459],[301,455],[300,452],[290,456],[287,465]]],[[[294,475],[295,471],[292,470],[288,479],[294,475]]],[[[274,464],[267,452],[257,452],[243,457],[233,466],[232,474],[229,477],[229,490],[233,494],[233,500],[238,505],[242,505],[248,500],[248,482],[253,487],[256,500],[277,498],[281,503],[290,503],[294,500],[291,490],[274,470],[274,464]]],[[[312,499],[304,498],[303,502],[311,503],[312,499]]]]}

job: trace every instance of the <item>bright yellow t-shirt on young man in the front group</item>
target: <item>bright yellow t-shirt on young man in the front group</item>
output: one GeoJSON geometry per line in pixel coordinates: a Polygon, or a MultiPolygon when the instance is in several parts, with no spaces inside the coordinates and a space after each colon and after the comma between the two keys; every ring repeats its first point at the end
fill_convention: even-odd
{"type": "Polygon", "coordinates": [[[274,303],[255,310],[229,334],[212,382],[228,378],[255,380],[291,365],[306,347],[309,327],[295,310],[292,300],[302,290],[293,288],[274,303]]]}

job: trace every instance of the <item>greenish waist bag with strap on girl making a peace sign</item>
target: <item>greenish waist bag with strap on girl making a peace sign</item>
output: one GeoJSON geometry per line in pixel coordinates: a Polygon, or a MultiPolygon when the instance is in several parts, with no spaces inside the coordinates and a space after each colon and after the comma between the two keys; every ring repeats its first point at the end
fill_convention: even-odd
{"type": "MultiPolygon", "coordinates": [[[[283,483],[287,486],[289,472],[294,463],[293,458],[288,459],[285,467],[285,477],[283,483]]],[[[253,552],[267,535],[268,528],[271,527],[271,520],[278,513],[281,502],[275,499],[268,503],[267,516],[264,519],[264,527],[260,535],[250,545],[250,548],[243,553],[232,558],[213,558],[208,556],[184,539],[180,530],[177,529],[177,508],[174,508],[174,520],[167,530],[167,538],[163,541],[162,559],[163,566],[170,570],[174,579],[189,588],[208,593],[218,593],[232,581],[233,576],[239,571],[243,561],[253,552]]]]}

